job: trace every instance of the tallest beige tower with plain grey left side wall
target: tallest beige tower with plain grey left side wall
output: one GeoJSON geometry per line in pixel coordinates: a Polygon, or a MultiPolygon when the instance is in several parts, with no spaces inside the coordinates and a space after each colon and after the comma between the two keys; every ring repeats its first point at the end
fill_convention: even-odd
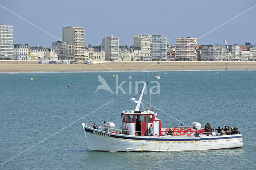
{"type": "Polygon", "coordinates": [[[84,57],[84,28],[65,26],[62,28],[62,41],[74,43],[75,60],[85,60],[84,57]]]}

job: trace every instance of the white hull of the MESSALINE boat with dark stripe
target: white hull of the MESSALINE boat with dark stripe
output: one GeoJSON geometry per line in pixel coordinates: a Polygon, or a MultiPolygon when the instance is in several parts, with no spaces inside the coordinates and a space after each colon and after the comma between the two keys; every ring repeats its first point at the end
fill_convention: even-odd
{"type": "Polygon", "coordinates": [[[89,150],[182,151],[240,148],[242,135],[225,136],[132,136],[96,130],[82,123],[89,150]]]}

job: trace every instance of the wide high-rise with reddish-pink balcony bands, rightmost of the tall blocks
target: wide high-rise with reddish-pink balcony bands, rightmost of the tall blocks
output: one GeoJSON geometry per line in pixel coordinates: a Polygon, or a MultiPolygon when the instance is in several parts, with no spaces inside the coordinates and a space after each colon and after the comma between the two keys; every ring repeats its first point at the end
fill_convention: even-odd
{"type": "Polygon", "coordinates": [[[197,38],[181,37],[175,38],[176,60],[196,60],[197,38]]]}

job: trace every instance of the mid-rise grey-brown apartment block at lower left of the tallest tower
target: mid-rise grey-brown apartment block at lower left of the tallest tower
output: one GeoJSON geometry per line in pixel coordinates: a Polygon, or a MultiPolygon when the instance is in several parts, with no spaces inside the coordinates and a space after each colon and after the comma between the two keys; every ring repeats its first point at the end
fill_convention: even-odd
{"type": "Polygon", "coordinates": [[[52,49],[57,52],[58,60],[75,60],[74,43],[63,41],[53,42],[52,49]]]}

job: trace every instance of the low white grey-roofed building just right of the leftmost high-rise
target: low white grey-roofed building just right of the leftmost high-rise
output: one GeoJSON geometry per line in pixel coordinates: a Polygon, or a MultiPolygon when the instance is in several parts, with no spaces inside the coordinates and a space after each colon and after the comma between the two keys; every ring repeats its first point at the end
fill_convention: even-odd
{"type": "Polygon", "coordinates": [[[13,59],[14,60],[30,60],[28,56],[28,44],[13,44],[13,59]]]}

